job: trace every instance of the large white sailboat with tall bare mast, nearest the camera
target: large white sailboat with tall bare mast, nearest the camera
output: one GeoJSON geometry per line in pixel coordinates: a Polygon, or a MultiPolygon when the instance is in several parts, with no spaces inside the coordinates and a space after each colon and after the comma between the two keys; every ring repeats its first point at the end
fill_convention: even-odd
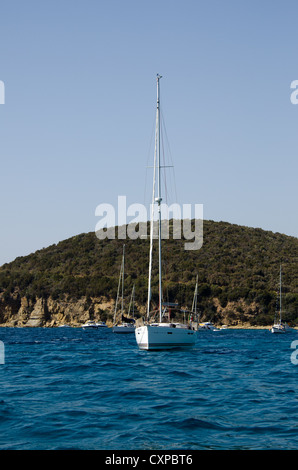
{"type": "Polygon", "coordinates": [[[160,178],[160,82],[161,76],[157,75],[157,106],[156,106],[156,129],[155,129],[155,151],[154,151],[154,175],[153,175],[153,196],[151,206],[150,221],[150,252],[149,252],[149,276],[148,276],[148,301],[147,320],[145,324],[137,326],[135,337],[140,349],[160,350],[174,348],[192,348],[196,342],[196,332],[191,327],[183,323],[163,322],[162,310],[164,307],[162,299],[162,269],[161,269],[161,178],[160,178]],[[155,197],[155,175],[157,170],[157,197],[155,197]],[[153,214],[154,204],[158,206],[158,258],[159,258],[159,322],[150,323],[150,302],[151,302],[151,270],[153,252],[153,214]]]}

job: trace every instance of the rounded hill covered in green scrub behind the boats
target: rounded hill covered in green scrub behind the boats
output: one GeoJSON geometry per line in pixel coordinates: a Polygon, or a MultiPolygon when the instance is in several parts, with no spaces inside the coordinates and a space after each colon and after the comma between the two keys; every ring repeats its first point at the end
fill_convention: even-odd
{"type": "MultiPolygon", "coordinates": [[[[125,290],[135,284],[139,311],[146,303],[149,240],[99,240],[86,233],[61,241],[0,268],[0,324],[7,305],[15,314],[21,299],[75,302],[115,299],[125,243],[125,290]]],[[[164,298],[191,307],[196,276],[202,320],[270,324],[276,309],[279,266],[283,269],[284,319],[298,325],[298,239],[259,228],[204,221],[200,250],[185,251],[184,240],[163,242],[164,298]]],[[[153,303],[157,302],[157,251],[153,263],[153,303]]],[[[88,307],[88,308],[89,308],[88,307]]],[[[90,310],[90,309],[89,309],[90,310]]],[[[6,312],[6,314],[5,314],[6,312]]],[[[112,309],[105,313],[111,315],[112,309]]]]}

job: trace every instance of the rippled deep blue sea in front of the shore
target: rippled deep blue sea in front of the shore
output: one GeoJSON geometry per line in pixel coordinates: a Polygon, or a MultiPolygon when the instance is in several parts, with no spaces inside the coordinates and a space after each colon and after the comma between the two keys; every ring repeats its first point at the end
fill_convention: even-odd
{"type": "Polygon", "coordinates": [[[0,340],[1,450],[298,448],[297,331],[202,331],[159,352],[110,329],[0,340]]]}

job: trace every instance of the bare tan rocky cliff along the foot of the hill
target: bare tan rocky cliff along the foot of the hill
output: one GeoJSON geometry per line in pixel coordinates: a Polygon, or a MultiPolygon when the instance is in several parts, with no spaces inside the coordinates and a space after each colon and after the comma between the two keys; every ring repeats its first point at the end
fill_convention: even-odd
{"type": "MultiPolygon", "coordinates": [[[[228,302],[223,307],[217,298],[212,299],[213,316],[201,312],[201,321],[212,319],[218,325],[229,326],[251,325],[259,314],[260,307],[252,302],[247,304],[245,299],[228,302]]],[[[176,320],[183,321],[182,307],[180,313],[172,312],[176,320]]],[[[88,320],[105,321],[112,326],[115,301],[106,297],[79,300],[53,300],[52,298],[36,298],[13,295],[4,301],[0,296],[0,326],[3,327],[57,327],[69,325],[80,327],[88,320]]],[[[145,305],[136,305],[136,317],[145,315],[145,305]]]]}

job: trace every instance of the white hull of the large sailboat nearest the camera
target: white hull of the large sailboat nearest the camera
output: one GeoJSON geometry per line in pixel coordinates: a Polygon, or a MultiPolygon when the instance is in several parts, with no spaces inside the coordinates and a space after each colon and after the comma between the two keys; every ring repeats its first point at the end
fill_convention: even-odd
{"type": "Polygon", "coordinates": [[[145,325],[135,329],[138,347],[145,350],[194,347],[196,332],[173,326],[145,325]]]}

